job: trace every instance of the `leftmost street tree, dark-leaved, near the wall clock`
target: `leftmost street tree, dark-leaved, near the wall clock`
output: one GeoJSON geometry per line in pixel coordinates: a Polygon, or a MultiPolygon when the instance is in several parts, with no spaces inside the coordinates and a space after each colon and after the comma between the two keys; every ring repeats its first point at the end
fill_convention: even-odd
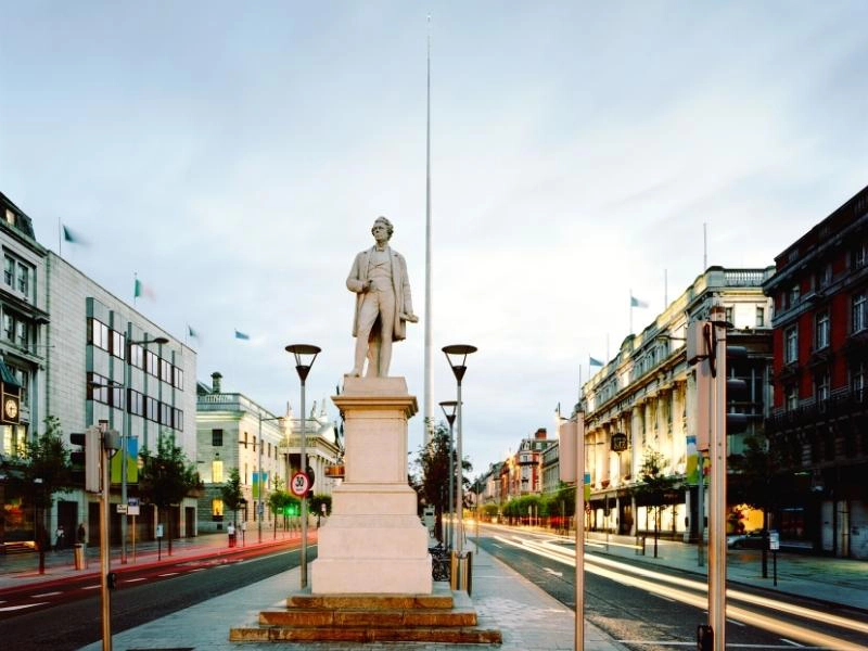
{"type": "Polygon", "coordinates": [[[76,488],[61,421],[58,417],[49,416],[44,423],[44,434],[25,442],[21,455],[0,457],[0,474],[7,477],[7,495],[21,498],[34,507],[39,574],[46,572],[46,549],[51,546],[46,519],[54,503],[54,494],[76,488]]]}

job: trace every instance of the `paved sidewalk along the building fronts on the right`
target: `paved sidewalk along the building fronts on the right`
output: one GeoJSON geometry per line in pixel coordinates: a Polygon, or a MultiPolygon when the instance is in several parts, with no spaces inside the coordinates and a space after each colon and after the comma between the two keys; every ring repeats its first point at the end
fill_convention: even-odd
{"type": "MultiPolygon", "coordinates": [[[[707,553],[699,564],[697,545],[659,540],[658,558],[654,541],[646,539],[646,552],[636,548],[636,538],[586,533],[586,554],[609,554],[629,558],[649,565],[678,567],[707,576],[707,553]]],[[[818,557],[793,551],[778,551],[778,585],[774,585],[773,556],[768,552],[768,578],[763,578],[762,551],[758,549],[730,549],[726,556],[727,585],[738,584],[777,590],[865,610],[868,613],[868,562],[853,559],[818,557]]]]}

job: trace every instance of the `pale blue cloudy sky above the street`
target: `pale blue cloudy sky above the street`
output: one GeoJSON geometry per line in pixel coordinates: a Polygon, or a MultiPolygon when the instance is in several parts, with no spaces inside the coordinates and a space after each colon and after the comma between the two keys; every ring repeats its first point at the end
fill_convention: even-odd
{"type": "Polygon", "coordinates": [[[0,191],[116,296],[138,275],[200,381],[276,413],[299,406],[285,345],[322,348],[308,408],[352,368],[379,215],[421,317],[391,374],[422,409],[430,36],[433,399],[441,348],[477,346],[472,475],[552,433],[631,294],[638,332],[704,259],[774,265],[868,182],[861,0],[2,0],[0,23],[0,191]]]}

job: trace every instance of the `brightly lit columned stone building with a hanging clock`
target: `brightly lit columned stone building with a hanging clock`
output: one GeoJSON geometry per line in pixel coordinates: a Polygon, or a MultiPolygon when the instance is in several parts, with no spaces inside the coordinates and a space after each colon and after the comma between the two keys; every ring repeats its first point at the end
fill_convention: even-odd
{"type": "Polygon", "coordinates": [[[656,454],[664,474],[682,486],[663,496],[661,531],[684,539],[699,535],[695,375],[685,354],[687,324],[707,319],[712,305],[720,304],[733,326],[727,343],[749,349],[729,369],[749,385],[749,399],[738,406],[750,413],[748,430],[727,433],[728,454],[740,455],[745,438],[762,429],[768,404],[771,305],[763,282],[773,272],[710,267],[641,333],[627,336],[583,386],[589,528],[630,535],[654,529],[654,511],[638,487],[644,460],[656,454]]]}

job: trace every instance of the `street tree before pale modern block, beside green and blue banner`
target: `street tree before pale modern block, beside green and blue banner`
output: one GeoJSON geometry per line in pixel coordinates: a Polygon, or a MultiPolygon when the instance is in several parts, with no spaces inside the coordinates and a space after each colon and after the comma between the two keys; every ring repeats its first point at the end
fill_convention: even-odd
{"type": "MultiPolygon", "coordinates": [[[[173,436],[161,436],[157,452],[151,456],[148,448],[142,448],[142,470],[139,473],[139,492],[142,499],[159,511],[179,505],[190,493],[202,489],[203,484],[195,468],[190,463],[183,450],[175,445],[173,436]]],[[[171,556],[171,518],[168,518],[169,556],[171,556]]]]}

